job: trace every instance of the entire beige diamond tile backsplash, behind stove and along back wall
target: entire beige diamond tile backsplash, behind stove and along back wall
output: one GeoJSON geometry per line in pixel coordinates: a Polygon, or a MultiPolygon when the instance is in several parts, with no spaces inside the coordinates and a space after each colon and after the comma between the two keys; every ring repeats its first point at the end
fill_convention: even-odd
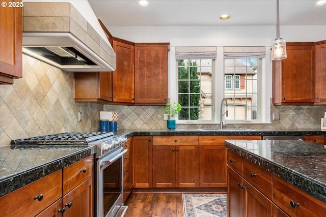
{"type": "MultiPolygon", "coordinates": [[[[273,106],[280,113],[272,124],[230,125],[251,129],[320,129],[326,106],[273,106]]],[[[10,140],[61,132],[99,130],[99,112],[117,111],[119,129],[165,130],[164,106],[117,106],[75,103],[73,73],[23,55],[23,78],[0,85],[0,146],[10,140]],[[78,122],[78,112],[83,118],[78,122]]],[[[219,125],[178,125],[177,129],[219,128],[219,125]]]]}

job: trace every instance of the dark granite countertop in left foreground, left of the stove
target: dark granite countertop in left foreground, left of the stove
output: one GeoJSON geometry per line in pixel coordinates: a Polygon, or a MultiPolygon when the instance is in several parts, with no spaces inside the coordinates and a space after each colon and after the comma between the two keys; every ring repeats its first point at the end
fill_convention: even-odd
{"type": "Polygon", "coordinates": [[[95,146],[0,146],[0,197],[94,154],[95,146]]]}

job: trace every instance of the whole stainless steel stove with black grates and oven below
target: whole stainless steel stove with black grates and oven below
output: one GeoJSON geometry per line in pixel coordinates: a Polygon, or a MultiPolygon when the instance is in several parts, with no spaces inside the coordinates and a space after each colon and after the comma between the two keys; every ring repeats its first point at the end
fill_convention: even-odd
{"type": "Polygon", "coordinates": [[[55,148],[96,146],[95,156],[95,216],[124,216],[127,206],[123,205],[123,149],[127,138],[114,133],[86,132],[59,133],[46,136],[16,139],[11,148],[55,148]]]}

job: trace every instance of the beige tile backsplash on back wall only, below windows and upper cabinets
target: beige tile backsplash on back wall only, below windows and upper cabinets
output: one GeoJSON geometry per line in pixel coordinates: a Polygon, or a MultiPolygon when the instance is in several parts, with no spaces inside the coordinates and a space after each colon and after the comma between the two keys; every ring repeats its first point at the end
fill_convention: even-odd
{"type": "MultiPolygon", "coordinates": [[[[104,105],[104,111],[117,111],[119,129],[164,130],[164,106],[115,106],[104,105]]],[[[280,113],[280,120],[272,124],[228,125],[228,128],[250,129],[314,129],[320,130],[320,118],[326,106],[273,106],[271,113],[280,113]]],[[[220,125],[177,125],[177,129],[220,128],[220,125]]]]}

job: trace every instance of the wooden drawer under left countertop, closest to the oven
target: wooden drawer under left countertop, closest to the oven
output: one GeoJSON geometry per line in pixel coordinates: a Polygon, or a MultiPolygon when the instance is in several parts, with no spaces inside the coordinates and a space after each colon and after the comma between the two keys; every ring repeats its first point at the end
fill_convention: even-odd
{"type": "Polygon", "coordinates": [[[63,169],[63,195],[94,174],[94,156],[89,156],[63,169]]]}

